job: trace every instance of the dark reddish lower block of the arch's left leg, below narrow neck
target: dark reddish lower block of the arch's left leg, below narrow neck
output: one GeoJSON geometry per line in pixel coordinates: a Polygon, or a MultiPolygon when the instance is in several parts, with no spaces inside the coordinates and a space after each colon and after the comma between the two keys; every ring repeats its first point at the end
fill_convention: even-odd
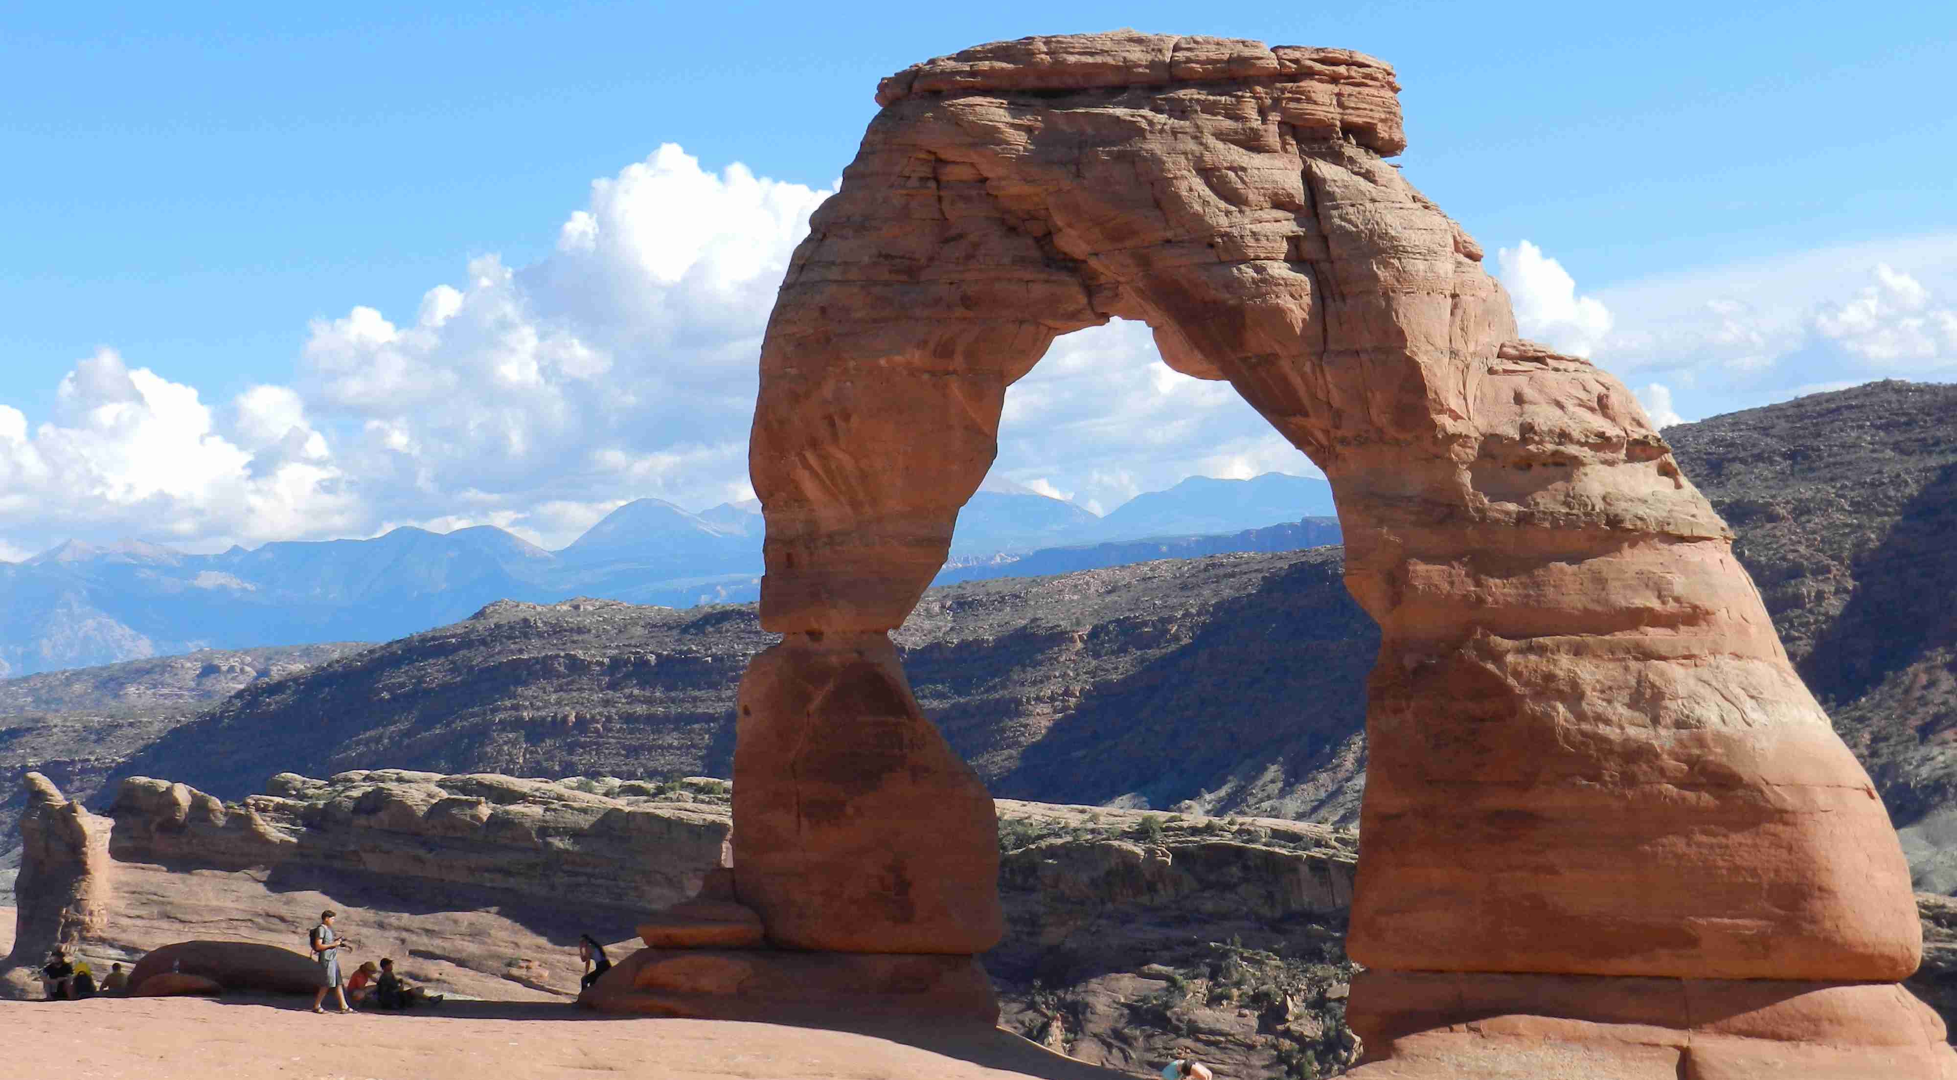
{"type": "Polygon", "coordinates": [[[769,941],[998,945],[992,796],[924,718],[888,638],[791,634],[748,667],[738,726],[734,892],[769,941]]]}

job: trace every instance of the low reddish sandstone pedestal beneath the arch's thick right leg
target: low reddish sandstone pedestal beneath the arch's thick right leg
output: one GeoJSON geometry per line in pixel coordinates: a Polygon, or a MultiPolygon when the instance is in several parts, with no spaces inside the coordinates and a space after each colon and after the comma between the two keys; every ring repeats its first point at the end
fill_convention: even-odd
{"type": "Polygon", "coordinates": [[[1943,1021],[1883,982],[1368,970],[1356,1080],[1957,1080],[1943,1021]]]}

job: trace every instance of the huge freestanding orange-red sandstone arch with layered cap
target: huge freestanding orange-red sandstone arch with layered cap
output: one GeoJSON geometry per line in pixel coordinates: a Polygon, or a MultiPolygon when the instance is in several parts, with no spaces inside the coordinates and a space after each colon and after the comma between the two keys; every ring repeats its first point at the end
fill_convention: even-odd
{"type": "Polygon", "coordinates": [[[1730,532],[1622,383],[1517,340],[1481,248],[1384,160],[1405,147],[1395,90],[1356,53],[1131,31],[883,82],[761,350],[761,624],[787,640],[742,695],[736,818],[761,832],[736,830],[740,898],[800,947],[984,943],[990,808],[887,634],[992,462],[1006,385],[1061,333],[1143,319],[1172,368],[1229,380],[1325,470],[1346,585],[1382,626],[1350,933],[1378,968],[1354,1015],[1393,1033],[1374,1074],[1573,1045],[1671,1076],[1699,1035],[1738,1039],[1701,1072],[1800,1041],[1853,1047],[1814,1076],[1957,1068],[1881,988],[1920,957],[1908,871],[1730,532]],[[914,830],[851,818],[933,785],[914,830]],[[926,867],[949,877],[918,892],[926,867]],[[1462,976],[1429,1010],[1413,972],[1462,976]],[[1771,1015],[1632,1015],[1628,978],[1771,1015]],[[1515,1012],[1558,1021],[1456,1060],[1452,1025],[1515,1012]],[[1834,1025],[1783,1021],[1810,1013],[1834,1025]],[[1622,1035],[1638,1023],[1677,1035],[1622,1035]]]}

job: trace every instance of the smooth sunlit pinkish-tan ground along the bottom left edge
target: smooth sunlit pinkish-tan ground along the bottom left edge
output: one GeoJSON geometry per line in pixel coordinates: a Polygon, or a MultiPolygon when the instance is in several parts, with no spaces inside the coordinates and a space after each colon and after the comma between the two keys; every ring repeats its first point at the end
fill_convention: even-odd
{"type": "MultiPolygon", "coordinates": [[[[450,1002],[313,1015],[294,998],[0,1002],[0,1078],[1121,1080],[1006,1031],[824,1031],[450,1002]]],[[[1129,1078],[1131,1080],[1131,1078],[1129,1078]]]]}

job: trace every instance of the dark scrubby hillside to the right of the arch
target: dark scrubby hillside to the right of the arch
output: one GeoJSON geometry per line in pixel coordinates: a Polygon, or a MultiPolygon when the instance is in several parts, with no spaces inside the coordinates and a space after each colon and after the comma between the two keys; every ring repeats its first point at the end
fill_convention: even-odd
{"type": "Polygon", "coordinates": [[[1797,669],[1957,890],[1957,385],[1879,382],[1667,428],[1797,669]]]}

